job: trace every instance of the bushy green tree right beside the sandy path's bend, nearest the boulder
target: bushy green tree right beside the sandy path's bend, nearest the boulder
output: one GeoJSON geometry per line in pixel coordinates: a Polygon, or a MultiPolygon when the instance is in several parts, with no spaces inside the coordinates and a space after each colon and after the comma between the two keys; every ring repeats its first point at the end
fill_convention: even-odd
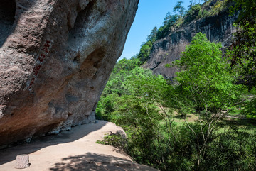
{"type": "Polygon", "coordinates": [[[152,75],[151,70],[137,67],[124,81],[127,94],[119,100],[119,109],[112,121],[121,125],[128,133],[129,153],[137,162],[158,167],[164,162],[164,150],[160,145],[159,113],[156,101],[164,96],[169,85],[163,76],[152,75]]]}

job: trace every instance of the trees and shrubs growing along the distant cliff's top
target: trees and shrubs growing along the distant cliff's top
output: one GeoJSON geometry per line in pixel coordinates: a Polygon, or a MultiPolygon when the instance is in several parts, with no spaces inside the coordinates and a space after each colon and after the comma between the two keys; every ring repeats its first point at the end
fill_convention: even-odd
{"type": "Polygon", "coordinates": [[[149,54],[155,41],[166,38],[169,33],[191,23],[191,21],[210,18],[217,16],[219,13],[227,13],[228,15],[228,9],[233,4],[232,0],[210,0],[205,1],[203,4],[196,4],[195,1],[191,1],[191,4],[186,9],[183,6],[183,1],[178,1],[173,9],[174,14],[166,13],[163,26],[154,27],[146,42],[142,43],[139,51],[139,60],[144,63],[149,59],[149,54]]]}

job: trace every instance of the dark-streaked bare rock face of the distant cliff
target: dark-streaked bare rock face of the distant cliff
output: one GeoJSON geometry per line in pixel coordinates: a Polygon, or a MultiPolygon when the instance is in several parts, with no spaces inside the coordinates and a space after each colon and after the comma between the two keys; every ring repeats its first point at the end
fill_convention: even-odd
{"type": "Polygon", "coordinates": [[[176,67],[166,68],[165,65],[180,58],[181,52],[185,50],[196,33],[204,33],[208,40],[221,42],[223,47],[228,47],[231,45],[232,33],[235,31],[233,22],[237,16],[229,16],[228,12],[223,12],[218,16],[203,18],[181,26],[169,33],[166,38],[154,43],[149,60],[144,67],[153,70],[155,75],[160,74],[167,79],[173,79],[177,72],[176,67]]]}

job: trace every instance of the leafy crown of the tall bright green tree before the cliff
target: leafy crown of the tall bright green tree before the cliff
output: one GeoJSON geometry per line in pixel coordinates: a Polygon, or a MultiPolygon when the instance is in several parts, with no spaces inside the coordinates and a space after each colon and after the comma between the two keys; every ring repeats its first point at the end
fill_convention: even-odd
{"type": "Polygon", "coordinates": [[[181,60],[174,62],[181,70],[176,73],[176,80],[186,106],[215,112],[231,107],[239,99],[241,86],[233,84],[235,75],[230,75],[228,60],[222,57],[220,47],[197,33],[181,60]]]}

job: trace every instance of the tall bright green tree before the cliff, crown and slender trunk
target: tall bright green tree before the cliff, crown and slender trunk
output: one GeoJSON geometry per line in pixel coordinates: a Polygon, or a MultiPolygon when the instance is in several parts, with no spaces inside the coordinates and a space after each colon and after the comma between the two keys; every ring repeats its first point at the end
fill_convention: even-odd
{"type": "Polygon", "coordinates": [[[230,75],[228,60],[222,57],[220,48],[220,43],[210,43],[206,35],[197,33],[181,60],[174,62],[180,70],[176,73],[176,91],[181,98],[177,108],[181,114],[196,110],[199,115],[199,130],[187,123],[196,138],[198,168],[218,121],[240,99],[241,86],[234,84],[236,77],[230,75]]]}

